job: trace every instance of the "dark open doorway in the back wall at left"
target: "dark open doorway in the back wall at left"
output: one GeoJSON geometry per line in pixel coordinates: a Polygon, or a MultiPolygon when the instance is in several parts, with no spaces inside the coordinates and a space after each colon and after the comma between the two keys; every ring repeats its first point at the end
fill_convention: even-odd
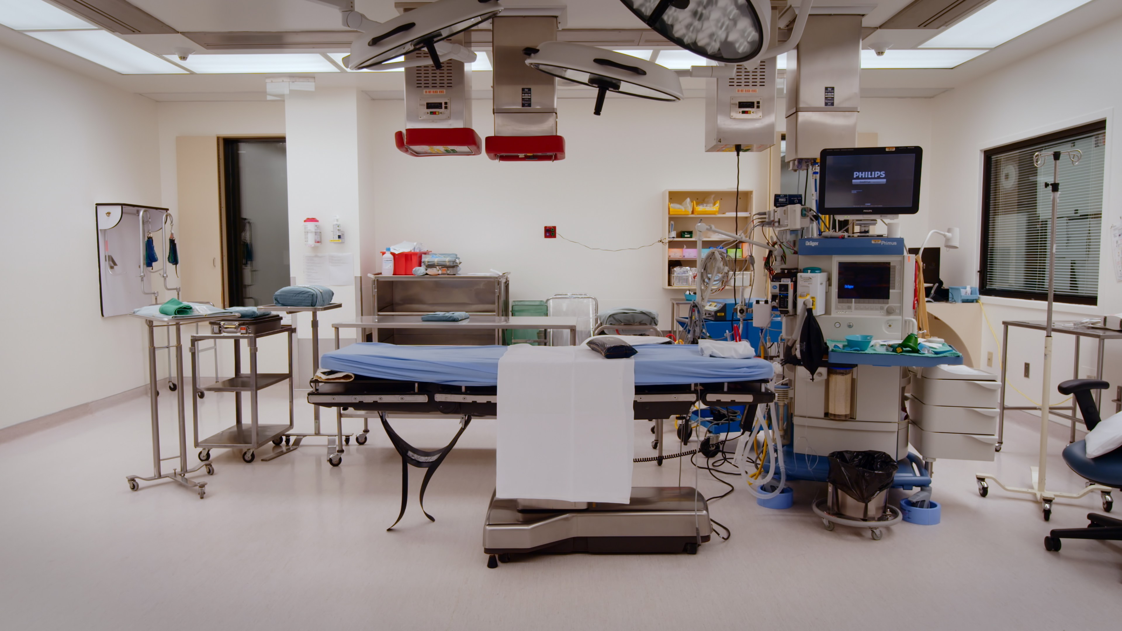
{"type": "Polygon", "coordinates": [[[289,284],[284,138],[223,138],[226,304],[272,304],[289,284]]]}

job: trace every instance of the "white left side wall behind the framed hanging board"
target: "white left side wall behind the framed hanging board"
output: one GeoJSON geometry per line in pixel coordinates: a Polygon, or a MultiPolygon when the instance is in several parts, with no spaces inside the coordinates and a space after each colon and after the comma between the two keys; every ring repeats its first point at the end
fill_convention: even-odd
{"type": "Polygon", "coordinates": [[[93,204],[159,207],[156,103],[0,46],[0,427],[147,382],[144,324],[102,318],[93,204]]]}

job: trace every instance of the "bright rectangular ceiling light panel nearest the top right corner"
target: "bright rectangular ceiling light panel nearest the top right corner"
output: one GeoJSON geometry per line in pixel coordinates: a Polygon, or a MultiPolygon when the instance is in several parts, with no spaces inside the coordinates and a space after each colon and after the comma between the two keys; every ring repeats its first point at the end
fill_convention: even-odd
{"type": "Polygon", "coordinates": [[[996,0],[936,35],[921,48],[995,48],[1089,0],[996,0]]]}

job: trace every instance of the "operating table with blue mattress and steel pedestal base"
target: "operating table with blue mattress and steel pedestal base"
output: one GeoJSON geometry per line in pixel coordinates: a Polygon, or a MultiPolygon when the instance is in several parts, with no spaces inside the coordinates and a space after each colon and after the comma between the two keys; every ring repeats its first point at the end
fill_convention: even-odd
{"type": "MultiPolygon", "coordinates": [[[[351,345],[324,354],[321,366],[353,373],[355,379],[313,381],[307,401],[378,414],[402,457],[399,521],[407,502],[408,466],[427,469],[421,487],[424,511],[429,481],[471,419],[496,414],[497,366],[506,348],[351,345]],[[460,428],[447,446],[417,449],[394,431],[387,418],[390,413],[459,415],[460,428]]],[[[774,400],[766,385],[772,367],[763,359],[702,357],[689,345],[637,349],[633,358],[635,419],[684,415],[698,401],[711,406],[748,405],[747,412],[754,414],[757,404],[774,400]]],[[[490,555],[490,567],[495,567],[496,557],[532,551],[693,554],[710,533],[708,506],[691,487],[633,487],[628,504],[493,496],[484,527],[484,551],[490,555]]]]}

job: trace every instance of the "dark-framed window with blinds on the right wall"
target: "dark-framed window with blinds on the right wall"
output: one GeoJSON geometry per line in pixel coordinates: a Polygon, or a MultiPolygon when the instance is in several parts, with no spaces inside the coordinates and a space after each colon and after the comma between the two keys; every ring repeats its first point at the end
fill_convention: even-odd
{"type": "Polygon", "coordinates": [[[1103,220],[1106,122],[1031,138],[985,152],[982,191],[983,295],[1048,299],[1051,152],[1079,149],[1059,163],[1056,217],[1057,302],[1097,304],[1098,244],[1103,220]],[[1039,167],[1032,156],[1041,156],[1039,167]]]}

